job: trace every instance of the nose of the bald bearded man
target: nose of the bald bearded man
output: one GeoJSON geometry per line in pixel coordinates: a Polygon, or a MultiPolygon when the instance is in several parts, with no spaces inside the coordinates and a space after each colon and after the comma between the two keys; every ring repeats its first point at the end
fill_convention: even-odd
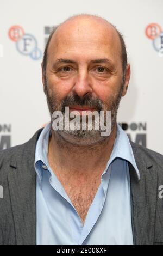
{"type": "Polygon", "coordinates": [[[80,74],[77,75],[72,91],[80,97],[92,93],[91,81],[86,71],[80,72],[80,74]]]}

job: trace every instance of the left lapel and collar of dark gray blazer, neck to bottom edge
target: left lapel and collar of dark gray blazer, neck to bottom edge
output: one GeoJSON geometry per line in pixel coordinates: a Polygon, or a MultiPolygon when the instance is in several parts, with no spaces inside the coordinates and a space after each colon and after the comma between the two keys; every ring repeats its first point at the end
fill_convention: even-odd
{"type": "Polygon", "coordinates": [[[17,245],[36,245],[35,144],[41,130],[12,156],[8,174],[17,245]]]}

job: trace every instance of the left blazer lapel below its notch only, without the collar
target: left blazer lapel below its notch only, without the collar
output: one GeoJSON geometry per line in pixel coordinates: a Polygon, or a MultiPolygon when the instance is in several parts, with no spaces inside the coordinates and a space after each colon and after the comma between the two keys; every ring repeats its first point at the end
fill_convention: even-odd
{"type": "MultiPolygon", "coordinates": [[[[28,168],[33,168],[29,164],[28,168]]],[[[29,172],[24,168],[24,172],[29,172]]],[[[8,175],[11,207],[14,216],[17,245],[36,244],[36,191],[34,175],[22,175],[21,168],[15,168],[8,175]]]]}

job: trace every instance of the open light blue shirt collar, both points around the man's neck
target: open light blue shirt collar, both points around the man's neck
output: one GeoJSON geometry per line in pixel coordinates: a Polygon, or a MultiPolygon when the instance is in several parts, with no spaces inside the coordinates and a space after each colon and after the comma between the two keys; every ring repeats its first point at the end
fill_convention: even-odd
{"type": "MultiPolygon", "coordinates": [[[[39,178],[40,186],[42,185],[42,172],[43,172],[43,165],[46,165],[48,169],[48,142],[49,142],[49,135],[51,132],[51,123],[48,123],[45,128],[42,130],[40,137],[36,144],[36,151],[35,151],[35,170],[39,178]]],[[[107,163],[106,170],[108,169],[110,163],[116,159],[121,158],[124,159],[132,164],[134,167],[138,179],[140,179],[140,173],[139,169],[137,168],[133,149],[131,147],[131,144],[129,142],[129,138],[121,128],[120,125],[117,124],[117,133],[116,133],[116,139],[114,142],[114,147],[110,156],[110,159],[107,163]]],[[[104,172],[104,173],[105,173],[104,172]]]]}

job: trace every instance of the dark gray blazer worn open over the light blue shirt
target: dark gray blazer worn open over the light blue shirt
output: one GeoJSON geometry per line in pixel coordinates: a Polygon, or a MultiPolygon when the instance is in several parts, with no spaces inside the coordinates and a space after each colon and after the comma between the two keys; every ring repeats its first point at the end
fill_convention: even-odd
{"type": "MultiPolygon", "coordinates": [[[[26,143],[0,151],[0,245],[36,245],[35,145],[40,129],[26,143]]],[[[140,180],[129,163],[131,220],[135,245],[163,245],[163,156],[131,143],[140,180]]]]}

